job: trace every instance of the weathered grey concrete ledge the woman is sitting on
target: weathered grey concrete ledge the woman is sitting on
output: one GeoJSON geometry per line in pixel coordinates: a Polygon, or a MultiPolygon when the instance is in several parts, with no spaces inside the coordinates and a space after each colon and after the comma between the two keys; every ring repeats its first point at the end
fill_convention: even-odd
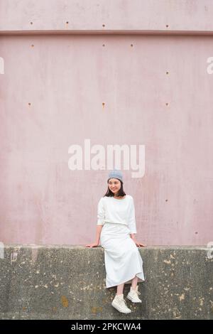
{"type": "Polygon", "coordinates": [[[105,289],[102,247],[4,245],[0,318],[213,319],[213,259],[205,246],[140,252],[143,303],[126,299],[132,313],[124,315],[111,306],[116,289],[105,289]]]}

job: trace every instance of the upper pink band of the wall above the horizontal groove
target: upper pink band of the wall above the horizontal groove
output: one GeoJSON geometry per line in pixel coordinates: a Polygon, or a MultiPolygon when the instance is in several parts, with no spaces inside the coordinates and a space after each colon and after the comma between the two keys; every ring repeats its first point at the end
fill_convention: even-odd
{"type": "Polygon", "coordinates": [[[1,0],[0,33],[213,31],[212,16],[212,0],[1,0]]]}

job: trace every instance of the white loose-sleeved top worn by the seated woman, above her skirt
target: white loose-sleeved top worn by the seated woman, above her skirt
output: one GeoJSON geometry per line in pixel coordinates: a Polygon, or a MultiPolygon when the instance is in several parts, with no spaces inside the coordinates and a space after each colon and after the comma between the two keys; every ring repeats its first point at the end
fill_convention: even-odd
{"type": "Polygon", "coordinates": [[[114,197],[102,197],[98,203],[97,225],[104,225],[105,222],[125,224],[129,227],[130,233],[137,233],[132,196],[126,195],[121,200],[114,197]]]}

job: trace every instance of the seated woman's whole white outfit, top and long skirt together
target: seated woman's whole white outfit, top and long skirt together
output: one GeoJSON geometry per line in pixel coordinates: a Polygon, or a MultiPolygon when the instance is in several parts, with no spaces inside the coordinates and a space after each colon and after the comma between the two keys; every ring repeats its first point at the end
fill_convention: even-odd
{"type": "Polygon", "coordinates": [[[97,225],[103,225],[100,242],[104,248],[106,287],[130,284],[135,276],[138,282],[145,281],[141,254],[130,237],[136,233],[132,196],[121,200],[104,196],[99,200],[97,218],[97,225]]]}

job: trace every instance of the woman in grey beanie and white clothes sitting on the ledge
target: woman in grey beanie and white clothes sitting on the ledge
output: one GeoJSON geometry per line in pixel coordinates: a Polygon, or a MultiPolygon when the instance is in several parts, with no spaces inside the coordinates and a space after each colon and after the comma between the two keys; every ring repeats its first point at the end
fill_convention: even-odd
{"type": "Polygon", "coordinates": [[[131,284],[127,298],[133,303],[141,303],[137,284],[145,279],[143,260],[137,246],[144,245],[135,239],[133,198],[124,193],[121,171],[111,171],[107,183],[107,193],[98,204],[96,242],[86,247],[97,247],[101,241],[107,272],[106,286],[117,286],[111,305],[121,313],[130,313],[131,309],[124,300],[124,284],[131,284]]]}

